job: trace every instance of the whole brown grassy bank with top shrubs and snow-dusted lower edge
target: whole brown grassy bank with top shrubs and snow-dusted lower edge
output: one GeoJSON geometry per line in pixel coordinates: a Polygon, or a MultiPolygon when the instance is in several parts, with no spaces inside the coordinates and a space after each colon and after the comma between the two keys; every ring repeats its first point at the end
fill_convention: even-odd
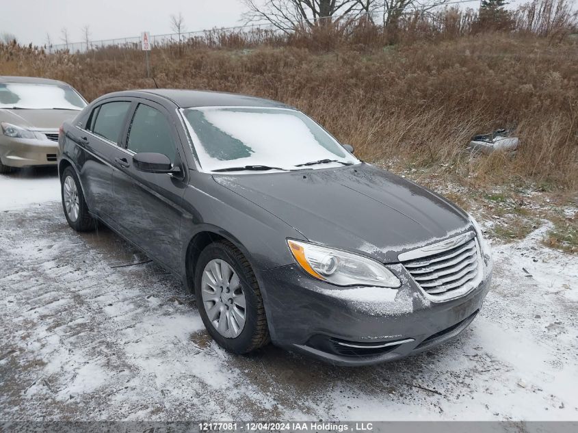
{"type": "Polygon", "coordinates": [[[488,217],[506,215],[495,237],[521,239],[545,218],[556,224],[547,244],[578,251],[577,218],[524,205],[534,193],[545,207],[577,200],[578,38],[568,31],[476,31],[464,16],[458,27],[448,16],[429,33],[406,23],[396,43],[367,25],[347,38],[343,29],[289,38],[213,31],[154,48],[154,79],[146,77],[144,52],[134,48],[49,54],[0,44],[0,75],[62,79],[88,100],[158,86],[283,101],[353,144],[365,161],[466,209],[482,203],[488,217]],[[516,155],[465,150],[473,135],[498,128],[514,129],[516,155]]]}

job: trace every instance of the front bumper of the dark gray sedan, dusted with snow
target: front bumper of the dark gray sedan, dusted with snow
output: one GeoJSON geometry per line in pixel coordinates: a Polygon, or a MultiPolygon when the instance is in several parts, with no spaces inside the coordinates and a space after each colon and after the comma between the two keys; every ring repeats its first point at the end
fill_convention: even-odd
{"type": "Polygon", "coordinates": [[[491,284],[486,270],[480,285],[464,296],[432,302],[402,265],[391,269],[404,282],[399,289],[339,288],[314,280],[298,265],[262,272],[273,343],[334,365],[404,358],[465,330],[491,284]]]}

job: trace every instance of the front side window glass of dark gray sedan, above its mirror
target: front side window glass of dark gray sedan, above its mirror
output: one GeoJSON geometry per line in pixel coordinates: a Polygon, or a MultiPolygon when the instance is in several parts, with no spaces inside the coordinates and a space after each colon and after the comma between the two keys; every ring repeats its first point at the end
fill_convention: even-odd
{"type": "Polygon", "coordinates": [[[175,162],[176,146],[171,127],[161,111],[140,104],[135,111],[127,148],[134,153],[162,153],[175,162]]]}

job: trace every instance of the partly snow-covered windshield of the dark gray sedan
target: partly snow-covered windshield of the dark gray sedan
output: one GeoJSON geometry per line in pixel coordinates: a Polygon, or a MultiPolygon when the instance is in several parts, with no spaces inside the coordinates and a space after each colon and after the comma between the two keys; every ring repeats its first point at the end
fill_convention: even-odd
{"type": "Polygon", "coordinates": [[[294,109],[201,107],[182,112],[206,171],[237,167],[299,170],[359,162],[325,129],[294,109]],[[302,166],[313,161],[319,162],[302,166]]]}

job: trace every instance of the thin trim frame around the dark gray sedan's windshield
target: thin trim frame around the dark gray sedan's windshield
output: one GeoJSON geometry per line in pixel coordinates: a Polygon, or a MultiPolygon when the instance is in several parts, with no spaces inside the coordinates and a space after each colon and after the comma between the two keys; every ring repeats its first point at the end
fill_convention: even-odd
{"type": "MultiPolygon", "coordinates": [[[[220,172],[220,171],[213,171],[213,170],[207,170],[205,168],[202,167],[202,162],[200,161],[200,158],[198,157],[198,151],[196,149],[196,144],[193,140],[193,135],[190,131],[190,129],[193,129],[192,124],[190,124],[189,120],[187,119],[187,115],[185,114],[186,110],[189,109],[196,109],[196,110],[202,110],[202,109],[235,109],[235,108],[239,108],[239,109],[273,109],[273,110],[281,110],[281,111],[295,111],[297,113],[301,113],[304,116],[306,116],[307,118],[309,118],[312,122],[314,122],[315,124],[317,124],[317,126],[321,129],[323,129],[323,131],[325,131],[325,133],[327,135],[329,135],[329,137],[331,138],[331,140],[333,140],[335,142],[335,144],[337,144],[338,146],[341,146],[343,148],[343,145],[337,140],[337,138],[335,138],[329,131],[327,131],[327,129],[325,129],[324,127],[322,127],[319,123],[317,123],[317,121],[313,118],[311,118],[310,116],[307,116],[307,114],[305,114],[303,111],[293,108],[293,107],[266,107],[264,105],[202,105],[202,106],[198,106],[198,107],[180,107],[179,109],[177,109],[177,111],[179,111],[179,114],[181,114],[181,122],[183,122],[183,124],[185,125],[185,130],[187,132],[187,139],[189,140],[189,145],[191,146],[191,150],[193,151],[193,157],[196,161],[196,163],[198,164],[198,171],[202,172],[202,173],[208,173],[208,174],[273,174],[273,173],[285,173],[288,170],[266,170],[266,171],[254,171],[254,170],[239,170],[236,172],[220,172]]],[[[194,130],[193,130],[194,132],[194,130]]],[[[345,148],[343,148],[343,150],[345,150],[346,153],[347,150],[345,148]]],[[[355,161],[352,163],[352,166],[357,166],[358,164],[361,163],[361,161],[353,154],[350,153],[350,155],[355,159],[355,161]]],[[[291,171],[304,171],[304,170],[323,170],[323,169],[328,169],[328,168],[339,168],[339,167],[345,167],[343,166],[341,163],[334,163],[336,164],[335,166],[327,166],[325,164],[321,164],[319,166],[307,166],[307,167],[295,167],[293,168],[293,170],[291,171]]]]}

